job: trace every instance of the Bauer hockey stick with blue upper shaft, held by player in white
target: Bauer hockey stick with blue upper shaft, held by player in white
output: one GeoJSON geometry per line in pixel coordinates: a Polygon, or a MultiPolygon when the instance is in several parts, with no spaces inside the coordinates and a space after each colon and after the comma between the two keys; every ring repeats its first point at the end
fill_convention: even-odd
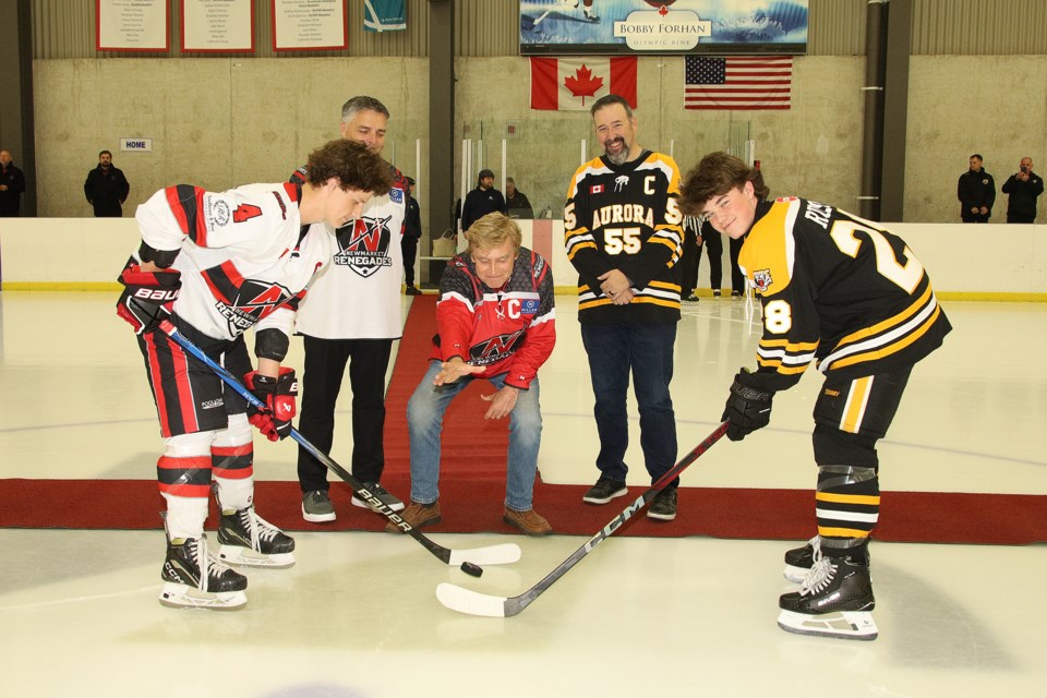
{"type": "MultiPolygon", "coordinates": [[[[178,328],[174,327],[170,321],[165,320],[163,323],[160,323],[160,329],[188,353],[192,354],[201,363],[214,371],[219,378],[225,381],[225,383],[236,390],[240,397],[246,400],[249,405],[254,408],[265,408],[265,405],[254,395],[254,393],[249,390],[222,365],[204,353],[204,351],[194,345],[188,337],[185,337],[185,335],[178,332],[178,328]]],[[[345,480],[352,489],[353,494],[356,494],[362,501],[369,503],[369,505],[374,505],[377,507],[373,510],[387,518],[393,522],[394,526],[417,540],[425,550],[431,552],[446,564],[461,566],[462,570],[473,575],[474,577],[479,577],[480,575],[476,574],[476,565],[504,565],[508,563],[515,563],[520,558],[520,546],[516,543],[503,543],[500,545],[489,545],[486,547],[474,547],[472,550],[450,550],[448,547],[444,547],[443,545],[438,545],[437,543],[425,538],[425,535],[419,532],[413,526],[405,521],[404,518],[396,514],[393,509],[382,504],[377,497],[368,491],[366,486],[362,482],[353,478],[348,470],[335,462],[329,456],[327,456],[327,454],[309,443],[309,441],[302,436],[297,429],[291,429],[291,438],[301,444],[302,447],[312,454],[313,457],[315,457],[318,461],[327,466],[328,470],[345,480]],[[473,571],[470,571],[470,569],[473,571]]],[[[480,574],[482,574],[482,570],[480,570],[480,574]]]]}

